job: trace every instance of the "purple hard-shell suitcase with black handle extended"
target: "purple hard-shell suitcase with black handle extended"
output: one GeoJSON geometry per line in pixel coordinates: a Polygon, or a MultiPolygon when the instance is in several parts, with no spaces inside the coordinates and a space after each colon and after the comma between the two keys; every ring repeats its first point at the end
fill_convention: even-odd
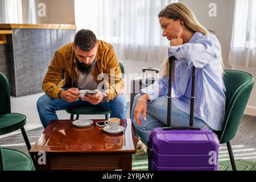
{"type": "MultiPolygon", "coordinates": [[[[174,56],[169,58],[171,67],[174,56]]],[[[171,79],[169,79],[171,85],[171,79]]],[[[191,118],[189,127],[171,128],[171,87],[168,93],[167,127],[151,131],[148,141],[148,170],[150,171],[217,171],[219,140],[216,134],[207,129],[193,126],[193,102],[195,98],[195,67],[193,67],[191,118]]]]}

